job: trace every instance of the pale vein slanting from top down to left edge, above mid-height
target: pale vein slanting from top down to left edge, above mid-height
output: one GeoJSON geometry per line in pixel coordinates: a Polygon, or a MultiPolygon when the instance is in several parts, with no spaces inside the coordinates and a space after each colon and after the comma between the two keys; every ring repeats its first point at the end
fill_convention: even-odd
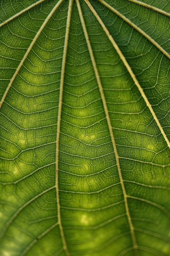
{"type": "Polygon", "coordinates": [[[41,25],[40,29],[38,30],[36,36],[34,37],[34,39],[32,40],[31,44],[29,45],[27,51],[26,51],[25,54],[24,54],[24,57],[23,57],[22,60],[20,61],[19,66],[17,67],[17,69],[16,69],[16,71],[15,71],[13,77],[11,78],[11,80],[10,80],[10,82],[9,82],[9,84],[8,84],[8,87],[6,88],[6,91],[5,91],[5,93],[4,93],[3,97],[2,97],[2,100],[1,100],[1,102],[0,102],[0,108],[1,108],[1,106],[2,106],[2,104],[3,104],[3,102],[4,102],[4,100],[5,100],[5,97],[6,97],[7,93],[8,93],[8,91],[9,91],[11,85],[13,84],[13,81],[14,81],[14,79],[16,78],[16,76],[17,76],[17,74],[18,74],[20,68],[22,67],[22,65],[23,65],[23,63],[24,63],[24,61],[25,61],[25,59],[27,59],[27,56],[28,56],[30,50],[32,49],[34,43],[36,42],[37,38],[39,37],[39,35],[41,34],[42,30],[43,30],[44,27],[46,26],[47,22],[49,21],[49,19],[50,19],[51,16],[53,15],[53,13],[56,11],[56,9],[58,8],[58,6],[62,3],[62,1],[63,1],[63,0],[58,1],[58,3],[55,5],[55,7],[52,9],[52,11],[48,14],[47,18],[45,19],[45,21],[44,21],[43,24],[41,25]]]}

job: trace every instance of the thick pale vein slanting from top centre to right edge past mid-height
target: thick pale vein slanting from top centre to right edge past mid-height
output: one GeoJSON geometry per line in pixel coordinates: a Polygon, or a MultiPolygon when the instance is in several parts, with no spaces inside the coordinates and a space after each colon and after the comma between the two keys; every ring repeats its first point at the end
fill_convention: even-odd
{"type": "MultiPolygon", "coordinates": [[[[99,1],[101,1],[101,0],[99,0],[99,1]]],[[[157,116],[156,116],[154,110],[152,109],[152,106],[151,106],[150,102],[148,101],[148,99],[147,99],[145,93],[143,92],[143,89],[142,89],[140,83],[138,82],[138,80],[137,80],[136,76],[134,75],[134,73],[133,73],[131,67],[129,66],[129,64],[128,64],[126,58],[124,57],[123,53],[122,53],[121,50],[119,49],[117,43],[114,41],[113,37],[110,35],[110,33],[109,33],[107,27],[104,25],[103,21],[100,19],[100,17],[99,17],[98,14],[96,13],[96,11],[95,11],[95,9],[93,8],[93,6],[89,3],[88,0],[85,0],[85,2],[88,4],[88,6],[89,6],[89,8],[91,9],[91,11],[93,12],[94,16],[96,17],[96,19],[97,19],[98,22],[100,23],[101,27],[103,28],[105,34],[108,36],[108,38],[109,38],[110,42],[112,43],[113,47],[115,48],[115,50],[116,50],[117,53],[119,54],[119,57],[122,59],[122,62],[123,62],[123,64],[124,64],[124,66],[125,66],[126,69],[128,70],[128,72],[129,72],[129,74],[131,75],[131,77],[132,77],[134,83],[136,84],[138,90],[140,91],[140,93],[141,93],[143,99],[144,99],[145,102],[146,102],[147,107],[149,108],[150,112],[152,113],[152,116],[154,117],[154,119],[155,119],[155,121],[156,121],[156,123],[157,123],[157,125],[158,125],[158,127],[159,127],[159,129],[160,129],[160,131],[161,131],[161,133],[162,133],[162,135],[164,136],[164,139],[165,139],[165,141],[166,141],[168,147],[170,148],[170,142],[169,142],[169,140],[168,140],[168,138],[167,138],[167,136],[166,136],[166,134],[165,134],[165,132],[164,132],[164,130],[163,130],[163,128],[162,128],[160,122],[159,122],[159,120],[157,119],[157,116]]],[[[101,2],[104,2],[104,1],[101,1],[101,2]]]]}

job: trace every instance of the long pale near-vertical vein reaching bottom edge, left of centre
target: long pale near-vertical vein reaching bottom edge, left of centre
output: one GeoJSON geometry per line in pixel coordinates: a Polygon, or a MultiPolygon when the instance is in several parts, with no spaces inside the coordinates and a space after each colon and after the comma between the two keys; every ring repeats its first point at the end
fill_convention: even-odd
{"type": "Polygon", "coordinates": [[[62,67],[61,67],[61,79],[60,79],[60,96],[58,103],[58,120],[57,120],[57,138],[56,138],[56,197],[57,197],[57,214],[58,214],[58,224],[60,228],[61,239],[63,243],[63,249],[67,256],[70,255],[65,235],[63,232],[63,227],[61,223],[61,212],[60,212],[60,199],[59,199],[59,189],[58,189],[58,155],[59,155],[59,138],[60,138],[60,123],[61,123],[61,110],[62,110],[62,96],[63,96],[63,85],[64,85],[64,76],[65,76],[65,66],[66,66],[66,56],[67,56],[67,46],[69,40],[69,29],[70,29],[70,19],[71,19],[71,10],[72,10],[73,0],[69,2],[69,9],[67,15],[67,24],[66,24],[66,35],[63,49],[63,58],[62,58],[62,67]]]}

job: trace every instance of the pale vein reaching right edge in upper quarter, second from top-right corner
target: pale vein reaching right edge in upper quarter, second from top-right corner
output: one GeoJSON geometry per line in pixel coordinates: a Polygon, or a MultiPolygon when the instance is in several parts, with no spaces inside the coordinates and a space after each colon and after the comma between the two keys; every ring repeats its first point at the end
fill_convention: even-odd
{"type": "Polygon", "coordinates": [[[125,22],[127,22],[131,27],[133,27],[136,31],[138,31],[142,36],[145,36],[146,39],[148,39],[153,45],[155,45],[156,48],[158,48],[162,53],[165,54],[165,56],[167,58],[170,59],[170,55],[169,53],[166,52],[166,50],[164,50],[158,43],[156,43],[156,41],[149,35],[147,35],[140,27],[138,27],[137,25],[135,25],[133,22],[131,22],[128,18],[126,18],[122,13],[118,12],[118,10],[114,9],[112,6],[110,6],[109,4],[107,4],[105,1],[103,0],[98,0],[101,4],[103,4],[104,6],[106,6],[109,10],[111,10],[113,13],[115,13],[117,16],[119,16],[120,18],[122,18],[125,22]]]}

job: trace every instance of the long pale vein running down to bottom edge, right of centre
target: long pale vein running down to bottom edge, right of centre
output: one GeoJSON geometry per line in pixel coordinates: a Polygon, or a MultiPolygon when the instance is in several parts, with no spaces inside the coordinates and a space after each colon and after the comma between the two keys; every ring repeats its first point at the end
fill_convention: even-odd
{"type": "MultiPolygon", "coordinates": [[[[90,9],[93,8],[88,0],[85,0],[85,1],[89,5],[90,9]]],[[[107,103],[106,103],[106,100],[105,100],[103,87],[102,87],[102,84],[101,84],[101,81],[100,81],[99,72],[98,72],[98,69],[97,69],[97,66],[96,66],[93,50],[91,48],[88,32],[86,30],[86,25],[85,25],[85,22],[84,22],[84,18],[83,18],[83,14],[82,14],[82,11],[81,11],[79,0],[76,0],[76,3],[77,3],[77,8],[79,10],[80,20],[81,20],[81,23],[82,23],[82,28],[83,28],[83,31],[84,31],[84,34],[85,34],[86,43],[88,45],[91,62],[92,62],[93,69],[94,69],[94,72],[95,72],[95,77],[96,77],[96,80],[97,80],[97,83],[98,83],[101,99],[102,99],[102,102],[103,102],[105,116],[106,116],[107,123],[108,123],[108,128],[109,128],[110,137],[111,137],[112,144],[113,144],[113,149],[114,149],[115,159],[116,159],[116,163],[117,163],[119,178],[120,178],[120,182],[121,182],[127,219],[128,219],[129,228],[130,228],[130,231],[131,231],[131,236],[132,236],[133,248],[134,248],[134,250],[136,250],[138,248],[138,246],[137,246],[136,237],[135,237],[135,233],[134,233],[134,227],[133,227],[130,212],[129,212],[128,202],[127,202],[127,194],[126,194],[126,190],[125,190],[124,182],[123,182],[123,178],[122,178],[121,167],[120,167],[120,164],[119,164],[119,156],[118,156],[117,148],[116,148],[116,145],[115,145],[115,140],[114,140],[114,135],[113,135],[113,130],[112,130],[112,124],[110,122],[110,117],[109,117],[109,112],[108,112],[108,107],[107,107],[107,103]]]]}

